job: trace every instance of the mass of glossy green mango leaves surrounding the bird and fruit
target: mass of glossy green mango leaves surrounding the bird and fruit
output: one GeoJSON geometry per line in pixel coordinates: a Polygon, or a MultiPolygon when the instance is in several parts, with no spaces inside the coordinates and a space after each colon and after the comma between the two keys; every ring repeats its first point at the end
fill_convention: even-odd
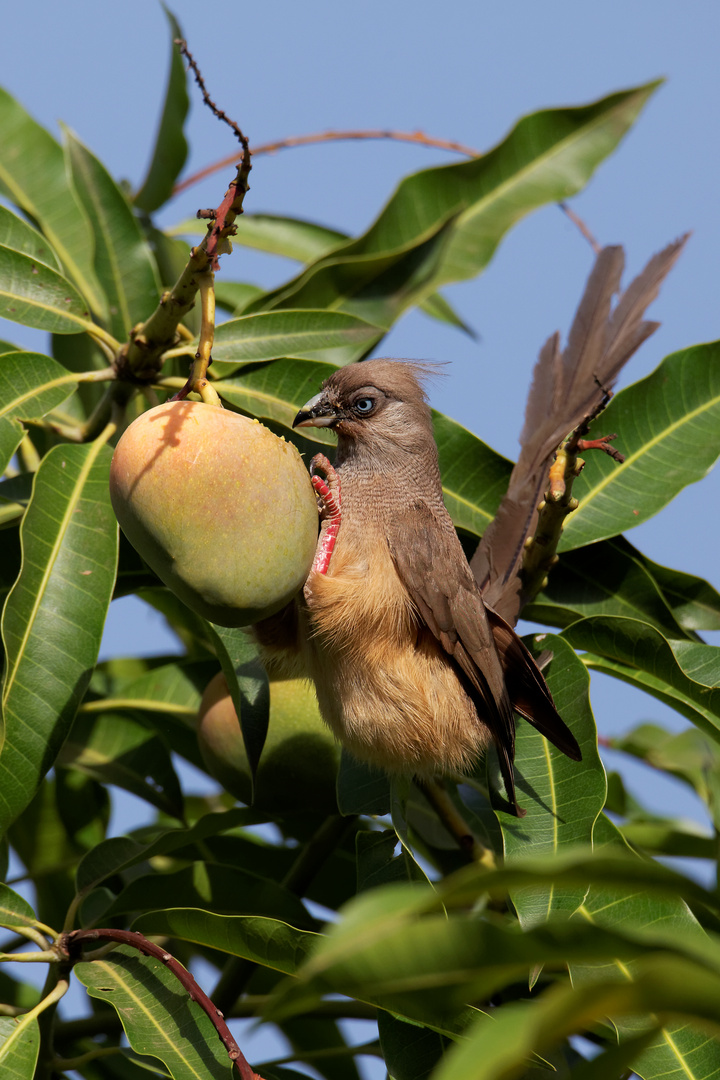
{"type": "MultiPolygon", "coordinates": [[[[327,432],[290,424],[320,382],[410,307],[462,330],[438,289],[480,273],[526,214],[579,191],[654,89],[521,119],[484,157],[408,176],[357,238],[239,219],[235,248],[299,269],[263,292],[226,280],[223,256],[210,377],[225,406],[314,453],[327,432]]],[[[622,535],[720,453],[720,343],[666,357],[612,401],[603,424],[625,461],[588,459],[559,562],[526,609],[558,631],[530,644],[552,652],[548,683],[582,764],[520,726],[521,820],[504,810],[492,754],[432,801],[343,756],[325,811],[288,804],[272,781],[266,809],[237,804],[199,747],[204,688],[222,670],[254,766],[293,705],[270,707],[242,632],[162,586],[119,537],[108,496],[122,424],[180,389],[198,349],[190,311],[157,369],[118,365],[188,260],[178,238],[198,228],[161,231],[152,218],[185,162],[187,106],[174,55],[149,173],[128,194],[70,131],[56,141],[0,91],[0,315],[51,335],[47,353],[0,343],[0,834],[5,864],[22,866],[15,889],[0,887],[0,960],[15,961],[0,970],[3,1076],[229,1076],[212,1017],[162,960],[130,940],[70,957],[64,934],[92,928],[162,943],[241,1043],[242,1022],[262,1018],[281,1048],[253,1063],[269,1080],[309,1067],[355,1080],[367,1055],[396,1080],[720,1076],[720,904],[662,861],[718,856],[720,649],[701,634],[720,627],[720,595],[622,535]],[[181,656],[98,663],[108,606],[128,594],[162,613],[181,656]],[[707,832],[649,812],[617,777],[608,784],[590,671],[690,721],[679,735],[644,725],[615,747],[692,787],[707,832]],[[147,821],[118,835],[109,822],[126,793],[147,821]],[[481,853],[470,865],[463,828],[481,853]],[[16,974],[22,962],[47,964],[42,995],[16,974]],[[63,1008],[70,978],[87,988],[86,1015],[63,1008]],[[349,1020],[371,1025],[359,1045],[349,1020]]],[[[512,463],[446,416],[435,434],[471,553],[512,463]]],[[[302,792],[302,754],[296,780],[302,792]]]]}

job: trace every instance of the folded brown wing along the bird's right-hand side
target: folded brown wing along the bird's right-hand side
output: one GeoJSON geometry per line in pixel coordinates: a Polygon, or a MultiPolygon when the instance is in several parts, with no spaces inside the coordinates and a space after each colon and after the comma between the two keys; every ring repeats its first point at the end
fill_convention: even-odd
{"type": "Polygon", "coordinates": [[[518,809],[513,704],[487,610],[452,523],[417,501],[396,515],[388,543],[420,618],[457,664],[492,733],[507,794],[518,809]]]}

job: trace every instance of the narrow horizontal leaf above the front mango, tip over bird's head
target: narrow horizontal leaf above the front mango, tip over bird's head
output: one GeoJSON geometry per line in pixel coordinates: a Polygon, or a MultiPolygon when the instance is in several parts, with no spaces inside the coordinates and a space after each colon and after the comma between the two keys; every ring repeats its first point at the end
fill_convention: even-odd
{"type": "Polygon", "coordinates": [[[280,356],[314,360],[325,359],[331,350],[330,362],[348,363],[372,348],[383,333],[340,311],[267,311],[221,323],[215,332],[213,360],[235,364],[280,356]]]}

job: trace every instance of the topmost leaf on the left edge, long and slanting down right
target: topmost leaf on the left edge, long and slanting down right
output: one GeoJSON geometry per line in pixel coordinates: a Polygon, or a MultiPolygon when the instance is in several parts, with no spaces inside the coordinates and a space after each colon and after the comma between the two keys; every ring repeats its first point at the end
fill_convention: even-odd
{"type": "Polygon", "coordinates": [[[101,318],[105,299],[93,270],[92,230],[68,179],[63,150],[4,90],[0,134],[0,191],[38,222],[68,276],[101,318]]]}

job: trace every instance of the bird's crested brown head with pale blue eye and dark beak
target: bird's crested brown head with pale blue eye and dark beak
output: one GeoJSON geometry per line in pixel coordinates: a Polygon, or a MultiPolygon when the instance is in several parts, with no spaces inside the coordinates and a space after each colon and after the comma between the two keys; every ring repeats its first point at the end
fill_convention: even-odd
{"type": "Polygon", "coordinates": [[[418,453],[433,443],[421,379],[430,364],[368,360],[341,367],[302,406],[294,428],[331,428],[341,457],[358,450],[418,453]]]}

